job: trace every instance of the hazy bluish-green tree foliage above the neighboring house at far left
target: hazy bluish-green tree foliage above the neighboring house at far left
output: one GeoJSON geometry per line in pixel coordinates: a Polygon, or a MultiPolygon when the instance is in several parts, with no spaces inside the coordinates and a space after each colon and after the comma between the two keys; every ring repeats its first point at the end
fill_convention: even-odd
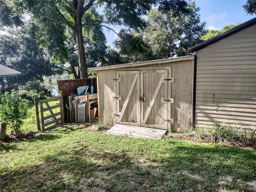
{"type": "Polygon", "coordinates": [[[0,38],[1,63],[20,71],[20,79],[25,82],[34,78],[42,82],[43,76],[60,72],[56,63],[47,59],[44,49],[40,48],[36,29],[34,23],[27,22],[0,38]]]}

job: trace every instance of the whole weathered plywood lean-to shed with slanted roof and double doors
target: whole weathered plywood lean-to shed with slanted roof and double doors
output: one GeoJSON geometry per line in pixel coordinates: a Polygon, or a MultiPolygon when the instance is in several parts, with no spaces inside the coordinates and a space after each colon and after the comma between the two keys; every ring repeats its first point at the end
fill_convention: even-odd
{"type": "Polygon", "coordinates": [[[107,126],[183,131],[193,117],[194,56],[91,68],[107,126]]]}

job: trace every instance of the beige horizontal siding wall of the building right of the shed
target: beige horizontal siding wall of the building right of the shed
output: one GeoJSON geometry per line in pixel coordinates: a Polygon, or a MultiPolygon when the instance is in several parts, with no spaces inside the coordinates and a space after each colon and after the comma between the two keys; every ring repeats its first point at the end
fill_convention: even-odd
{"type": "Polygon", "coordinates": [[[256,125],[256,24],[197,51],[195,123],[256,125]]]}

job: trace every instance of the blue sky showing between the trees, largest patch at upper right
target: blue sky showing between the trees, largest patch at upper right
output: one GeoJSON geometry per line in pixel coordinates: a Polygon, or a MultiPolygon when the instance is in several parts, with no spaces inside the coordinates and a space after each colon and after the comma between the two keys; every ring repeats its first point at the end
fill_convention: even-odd
{"type": "MultiPolygon", "coordinates": [[[[206,27],[208,29],[220,30],[223,26],[243,23],[255,17],[255,15],[246,15],[242,8],[245,1],[197,0],[195,2],[197,6],[201,8],[201,20],[207,22],[206,27]]],[[[120,27],[112,27],[112,29],[118,31],[120,27]]],[[[113,31],[105,31],[105,35],[107,44],[111,45],[116,38],[115,33],[113,31]]]]}

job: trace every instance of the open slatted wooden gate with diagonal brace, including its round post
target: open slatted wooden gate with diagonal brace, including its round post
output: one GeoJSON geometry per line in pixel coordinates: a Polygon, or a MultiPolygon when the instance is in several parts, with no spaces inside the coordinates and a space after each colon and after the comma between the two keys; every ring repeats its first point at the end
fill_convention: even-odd
{"type": "Polygon", "coordinates": [[[38,103],[40,105],[42,131],[52,129],[64,123],[64,107],[62,96],[43,99],[39,102],[37,102],[37,98],[35,98],[35,109],[37,114],[38,130],[40,129],[38,103]]]}

